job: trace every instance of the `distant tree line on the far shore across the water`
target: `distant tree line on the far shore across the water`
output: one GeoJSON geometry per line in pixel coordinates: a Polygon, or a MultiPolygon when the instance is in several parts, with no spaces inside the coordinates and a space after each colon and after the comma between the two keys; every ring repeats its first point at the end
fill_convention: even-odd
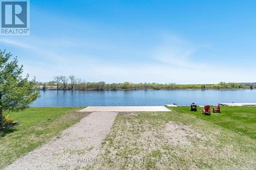
{"type": "Polygon", "coordinates": [[[225,83],[218,84],[176,84],[176,83],[105,83],[86,82],[73,75],[55,76],[50,82],[37,82],[37,89],[92,89],[92,90],[117,90],[117,89],[152,89],[152,90],[175,90],[175,89],[254,89],[256,83],[225,83]]]}

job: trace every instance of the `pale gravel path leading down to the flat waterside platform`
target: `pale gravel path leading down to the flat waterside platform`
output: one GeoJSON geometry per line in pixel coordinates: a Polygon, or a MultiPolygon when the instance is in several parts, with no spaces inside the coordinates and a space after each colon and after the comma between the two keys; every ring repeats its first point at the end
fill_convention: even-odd
{"type": "Polygon", "coordinates": [[[86,166],[100,153],[117,112],[93,112],[59,137],[35,149],[5,169],[74,169],[86,166]]]}

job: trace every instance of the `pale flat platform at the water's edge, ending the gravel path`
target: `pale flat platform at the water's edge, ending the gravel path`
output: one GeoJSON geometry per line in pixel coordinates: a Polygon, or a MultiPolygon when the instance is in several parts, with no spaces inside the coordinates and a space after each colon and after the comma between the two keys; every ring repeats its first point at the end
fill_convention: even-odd
{"type": "Polygon", "coordinates": [[[80,112],[169,112],[164,106],[89,106],[80,112]]]}

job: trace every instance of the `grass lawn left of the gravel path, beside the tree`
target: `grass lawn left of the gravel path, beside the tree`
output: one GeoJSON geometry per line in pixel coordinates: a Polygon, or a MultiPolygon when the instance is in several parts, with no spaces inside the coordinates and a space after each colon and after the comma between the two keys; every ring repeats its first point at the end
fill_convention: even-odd
{"type": "Polygon", "coordinates": [[[78,109],[29,108],[8,113],[14,122],[22,124],[0,131],[0,169],[78,122],[84,116],[75,112],[78,109]]]}

